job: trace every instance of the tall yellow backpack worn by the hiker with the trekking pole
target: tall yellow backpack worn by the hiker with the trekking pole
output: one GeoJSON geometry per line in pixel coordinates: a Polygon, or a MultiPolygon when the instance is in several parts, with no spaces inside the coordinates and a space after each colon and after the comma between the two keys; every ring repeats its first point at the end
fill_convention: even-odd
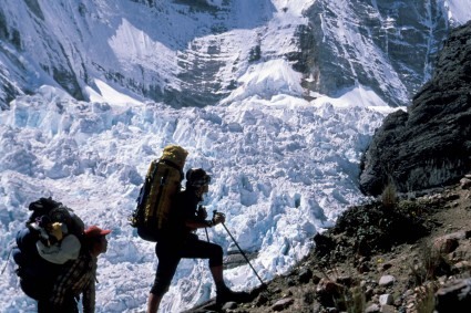
{"type": "Polygon", "coordinates": [[[181,190],[183,167],[188,153],[175,145],[166,146],[162,157],[153,160],[147,169],[136,208],[130,218],[137,234],[156,242],[168,220],[172,201],[181,190]]]}

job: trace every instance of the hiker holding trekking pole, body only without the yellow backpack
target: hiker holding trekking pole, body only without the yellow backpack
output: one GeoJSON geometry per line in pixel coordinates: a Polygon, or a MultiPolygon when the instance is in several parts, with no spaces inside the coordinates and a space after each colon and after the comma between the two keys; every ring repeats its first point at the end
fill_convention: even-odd
{"type": "Polygon", "coordinates": [[[225,216],[215,213],[213,219],[206,220],[207,212],[198,204],[208,191],[211,177],[202,168],[190,169],[186,173],[186,189],[176,197],[171,210],[165,236],[162,236],[155,246],[158,258],[157,272],[154,285],[147,300],[147,313],[155,313],[163,295],[168,291],[172,278],[178,262],[185,259],[208,259],[209,270],[216,284],[216,302],[244,302],[248,294],[233,292],[226,286],[223,278],[223,249],[221,246],[199,240],[195,230],[213,227],[225,222],[225,216]]]}

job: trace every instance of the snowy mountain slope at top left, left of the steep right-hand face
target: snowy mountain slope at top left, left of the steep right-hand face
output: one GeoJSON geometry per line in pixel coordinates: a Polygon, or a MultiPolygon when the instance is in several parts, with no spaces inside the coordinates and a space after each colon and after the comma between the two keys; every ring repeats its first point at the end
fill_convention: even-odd
{"type": "Polygon", "coordinates": [[[3,100],[49,79],[78,100],[99,80],[139,98],[215,104],[250,62],[296,51],[308,3],[293,2],[285,14],[267,0],[2,1],[3,100]]]}

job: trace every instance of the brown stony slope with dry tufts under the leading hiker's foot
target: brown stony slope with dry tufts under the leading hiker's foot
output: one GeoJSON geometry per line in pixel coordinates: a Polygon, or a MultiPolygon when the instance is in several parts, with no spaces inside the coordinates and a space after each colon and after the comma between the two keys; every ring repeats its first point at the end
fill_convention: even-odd
{"type": "Polygon", "coordinates": [[[252,302],[186,312],[469,312],[470,177],[418,198],[383,195],[349,208],[316,236],[310,255],[254,290],[252,302]]]}

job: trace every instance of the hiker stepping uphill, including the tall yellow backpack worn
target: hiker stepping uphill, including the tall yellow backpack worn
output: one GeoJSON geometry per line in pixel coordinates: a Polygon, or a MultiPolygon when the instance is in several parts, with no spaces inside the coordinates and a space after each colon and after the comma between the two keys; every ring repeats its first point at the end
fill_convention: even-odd
{"type": "Polygon", "coordinates": [[[223,277],[222,247],[199,240],[195,233],[196,229],[224,223],[225,216],[215,213],[212,219],[207,220],[206,210],[198,206],[203,201],[204,195],[208,191],[211,182],[211,177],[204,169],[188,169],[186,171],[186,188],[183,191],[181,190],[180,184],[183,180],[182,170],[186,156],[187,152],[180,146],[164,148],[163,156],[156,161],[156,167],[165,165],[172,169],[180,170],[180,180],[172,176],[172,169],[155,170],[155,165],[151,164],[146,181],[141,190],[143,199],[141,197],[137,199],[137,204],[141,201],[150,205],[146,209],[141,209],[141,212],[139,212],[140,206],[137,205],[131,219],[132,225],[137,228],[137,233],[141,238],[157,242],[155,244],[155,253],[158,258],[158,265],[154,284],[147,299],[147,313],[157,312],[161,300],[168,291],[172,278],[182,258],[208,259],[211,274],[216,284],[217,304],[228,301],[245,302],[250,298],[246,292],[234,292],[226,286],[223,277]],[[177,167],[175,168],[174,165],[177,165],[177,167]],[[146,191],[145,185],[153,187],[149,187],[150,190],[146,191]],[[168,189],[165,189],[166,187],[168,189]],[[164,195],[166,191],[171,194],[164,195]],[[158,207],[158,204],[166,204],[168,207],[158,207]],[[140,222],[141,225],[139,225],[140,222]]]}

